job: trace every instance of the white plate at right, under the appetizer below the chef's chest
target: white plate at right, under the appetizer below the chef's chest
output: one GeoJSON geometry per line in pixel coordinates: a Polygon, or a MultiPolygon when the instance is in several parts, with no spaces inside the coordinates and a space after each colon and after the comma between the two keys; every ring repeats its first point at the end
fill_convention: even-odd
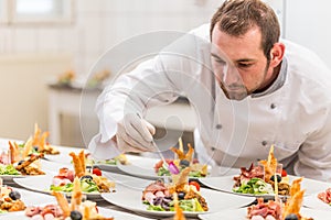
{"type": "MultiPolygon", "coordinates": [[[[296,176],[289,175],[289,182],[291,183],[293,179],[299,178],[296,176]]],[[[263,197],[266,199],[273,199],[274,195],[252,195],[252,194],[238,194],[232,190],[234,180],[233,176],[220,176],[220,177],[206,177],[199,179],[203,185],[216,189],[220,191],[231,193],[235,195],[243,195],[243,196],[250,196],[250,197],[263,197]]],[[[301,188],[306,189],[306,196],[311,194],[317,194],[319,191],[323,191],[328,188],[328,183],[325,182],[318,182],[314,179],[303,178],[301,188]]]]}

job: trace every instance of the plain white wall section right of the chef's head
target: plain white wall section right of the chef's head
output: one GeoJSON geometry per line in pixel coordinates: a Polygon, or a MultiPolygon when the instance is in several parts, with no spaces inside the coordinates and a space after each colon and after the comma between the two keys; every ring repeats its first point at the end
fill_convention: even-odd
{"type": "Polygon", "coordinates": [[[286,1],[286,38],[314,51],[331,68],[331,1],[286,1]]]}

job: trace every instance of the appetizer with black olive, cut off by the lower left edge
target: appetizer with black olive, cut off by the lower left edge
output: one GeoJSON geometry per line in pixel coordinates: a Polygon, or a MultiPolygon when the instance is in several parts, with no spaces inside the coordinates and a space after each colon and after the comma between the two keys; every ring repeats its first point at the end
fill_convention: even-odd
{"type": "Polygon", "coordinates": [[[25,209],[21,194],[9,186],[0,185],[0,213],[22,211],[25,209]]]}

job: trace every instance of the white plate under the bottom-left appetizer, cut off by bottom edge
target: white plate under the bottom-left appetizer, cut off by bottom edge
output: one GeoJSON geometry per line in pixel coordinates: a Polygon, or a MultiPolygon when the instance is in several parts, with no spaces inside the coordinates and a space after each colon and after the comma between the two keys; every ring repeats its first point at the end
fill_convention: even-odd
{"type": "MultiPolygon", "coordinates": [[[[121,211],[116,211],[111,209],[106,209],[102,207],[98,207],[98,210],[99,213],[103,215],[104,217],[114,217],[116,220],[148,220],[147,218],[143,217],[139,217],[139,216],[135,216],[121,211]]],[[[26,217],[24,211],[10,212],[1,216],[1,220],[12,220],[12,219],[29,220],[31,218],[26,217]]]]}

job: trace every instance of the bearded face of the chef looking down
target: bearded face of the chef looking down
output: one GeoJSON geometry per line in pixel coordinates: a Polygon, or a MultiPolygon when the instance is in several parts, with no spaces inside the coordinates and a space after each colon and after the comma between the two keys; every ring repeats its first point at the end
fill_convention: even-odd
{"type": "Polygon", "coordinates": [[[216,26],[212,35],[211,61],[216,80],[228,99],[242,100],[265,86],[273,73],[260,46],[258,28],[232,36],[216,26]]]}

